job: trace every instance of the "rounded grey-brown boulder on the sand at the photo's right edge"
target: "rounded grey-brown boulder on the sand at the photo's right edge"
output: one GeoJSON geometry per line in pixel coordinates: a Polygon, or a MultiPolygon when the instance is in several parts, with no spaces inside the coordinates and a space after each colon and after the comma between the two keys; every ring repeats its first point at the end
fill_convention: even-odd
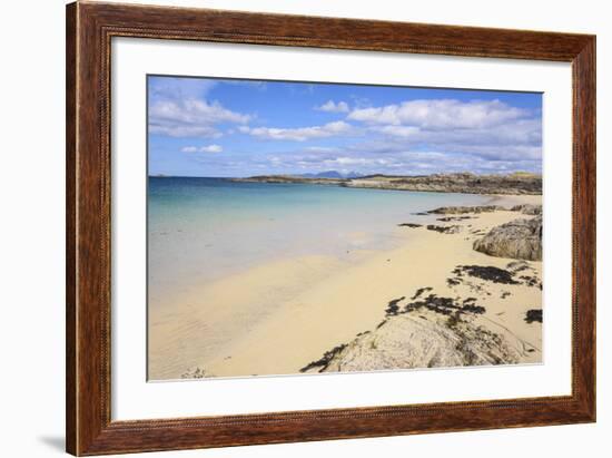
{"type": "Polygon", "coordinates": [[[542,216],[494,227],[473,247],[491,256],[542,261],[542,216]]]}

